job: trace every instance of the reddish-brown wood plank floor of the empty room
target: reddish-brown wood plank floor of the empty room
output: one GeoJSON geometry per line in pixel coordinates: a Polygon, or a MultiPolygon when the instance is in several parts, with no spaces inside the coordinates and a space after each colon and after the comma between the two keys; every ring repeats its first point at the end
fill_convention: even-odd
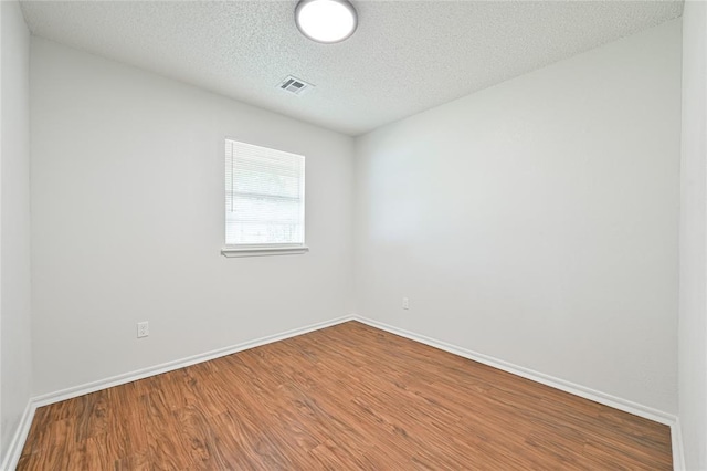
{"type": "Polygon", "coordinates": [[[19,470],[672,469],[668,427],[349,322],[36,410],[19,470]]]}

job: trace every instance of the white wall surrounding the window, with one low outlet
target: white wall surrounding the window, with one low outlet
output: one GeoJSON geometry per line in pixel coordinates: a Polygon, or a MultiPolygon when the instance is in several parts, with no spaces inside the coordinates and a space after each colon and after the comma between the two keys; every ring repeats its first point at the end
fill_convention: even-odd
{"type": "Polygon", "coordinates": [[[35,394],[350,313],[350,137],[35,38],[31,78],[35,394]],[[309,253],[220,254],[226,136],[306,157],[309,253]]]}

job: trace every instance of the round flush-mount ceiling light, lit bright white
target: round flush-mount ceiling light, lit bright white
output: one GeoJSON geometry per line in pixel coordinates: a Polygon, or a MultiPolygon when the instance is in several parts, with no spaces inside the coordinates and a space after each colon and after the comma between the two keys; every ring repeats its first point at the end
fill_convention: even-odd
{"type": "Polygon", "coordinates": [[[302,34],[323,43],[340,42],[356,31],[356,9],[347,0],[300,0],[295,22],[302,34]]]}

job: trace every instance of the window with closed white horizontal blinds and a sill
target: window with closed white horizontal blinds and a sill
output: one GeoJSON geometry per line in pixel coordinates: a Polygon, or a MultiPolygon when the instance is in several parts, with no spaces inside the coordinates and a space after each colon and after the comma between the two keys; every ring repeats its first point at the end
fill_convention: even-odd
{"type": "Polygon", "coordinates": [[[225,140],[226,257],[304,253],[305,158],[225,140]]]}

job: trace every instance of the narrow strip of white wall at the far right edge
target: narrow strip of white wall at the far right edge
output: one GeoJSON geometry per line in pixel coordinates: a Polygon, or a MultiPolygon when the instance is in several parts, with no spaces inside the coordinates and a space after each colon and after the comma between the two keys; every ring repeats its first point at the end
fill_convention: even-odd
{"type": "Polygon", "coordinates": [[[683,13],[679,416],[689,470],[707,470],[707,3],[683,13]]]}

